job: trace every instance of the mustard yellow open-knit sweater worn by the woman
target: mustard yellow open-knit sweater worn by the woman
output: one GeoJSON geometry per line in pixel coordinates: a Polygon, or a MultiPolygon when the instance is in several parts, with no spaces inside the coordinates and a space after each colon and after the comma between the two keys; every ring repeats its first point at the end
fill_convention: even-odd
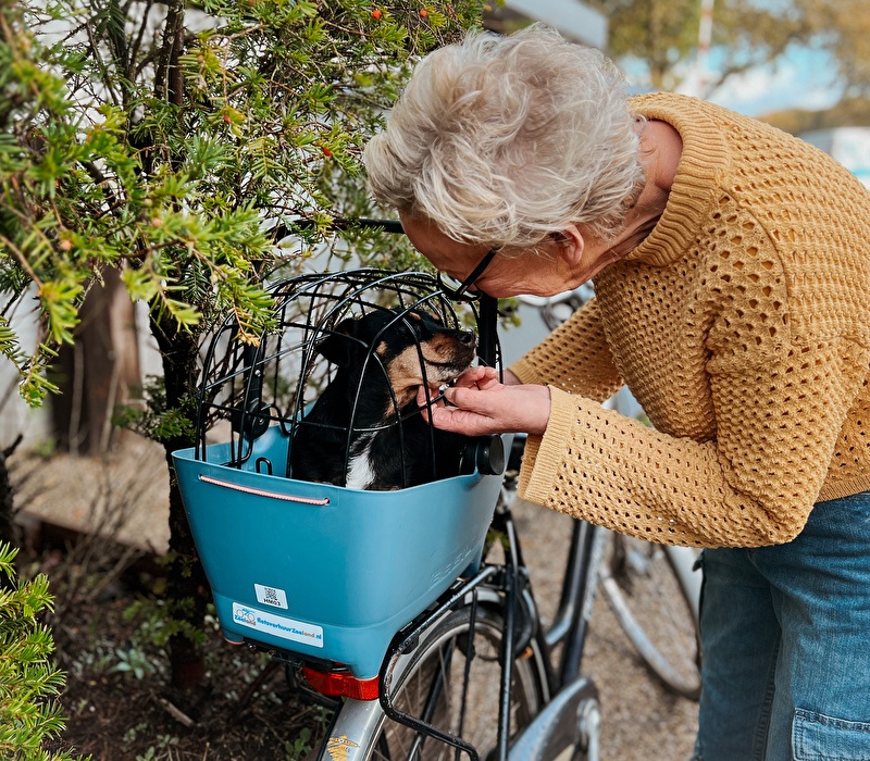
{"type": "Polygon", "coordinates": [[[511,367],[552,398],[520,494],[655,541],[788,541],[816,501],[870,489],[870,192],[712,104],[633,107],[681,134],[678,176],[596,299],[511,367]],[[623,383],[655,429],[598,403],[623,383]]]}

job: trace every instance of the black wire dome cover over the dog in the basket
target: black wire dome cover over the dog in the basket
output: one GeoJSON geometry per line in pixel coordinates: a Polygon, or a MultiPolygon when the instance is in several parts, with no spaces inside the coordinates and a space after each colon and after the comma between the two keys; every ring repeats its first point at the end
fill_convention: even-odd
{"type": "MultiPolygon", "coordinates": [[[[425,344],[427,334],[421,325],[430,333],[438,333],[442,342],[447,340],[444,336],[449,336],[467,353],[469,347],[461,345],[472,340],[471,330],[481,322],[476,304],[450,302],[427,273],[373,269],[301,275],[276,283],[270,292],[274,299],[274,325],[261,337],[259,346],[238,340],[238,326],[229,319],[207,347],[199,386],[197,458],[207,459],[206,448],[212,442],[229,441],[225,464],[241,467],[251,457],[252,442],[271,426],[278,426],[288,440],[286,463],[270,463],[270,472],[277,466],[279,474],[289,477],[349,485],[346,476],[355,448],[359,450],[360,441],[371,441],[382,434],[397,438],[402,458],[408,457],[409,448],[425,449],[424,454],[431,460],[428,479],[455,475],[445,472],[451,470],[451,464],[439,461],[440,450],[453,444],[436,440],[443,433],[430,426],[420,438],[422,417],[408,411],[415,403],[409,407],[407,392],[396,388],[388,366],[391,358],[386,357],[384,347],[396,336],[410,341],[406,360],[422,372],[424,388],[437,386],[443,378],[434,375],[440,369],[433,370],[433,352],[425,344]],[[377,323],[365,336],[351,329],[364,320],[377,323]],[[341,361],[334,351],[326,350],[336,346],[340,348],[338,353],[352,354],[347,360],[352,366],[344,375],[341,361]],[[346,391],[346,414],[334,412],[332,417],[337,414],[339,420],[331,420],[330,414],[312,413],[330,384],[347,384],[350,376],[356,387],[346,391]],[[371,407],[366,400],[373,386],[387,386],[384,414],[374,423],[364,413],[366,403],[371,407]],[[414,414],[411,428],[410,417],[414,414]],[[323,462],[339,458],[341,481],[325,477],[321,469],[315,469],[314,476],[300,473],[301,454],[299,448],[294,454],[295,439],[299,446],[304,442],[308,450],[323,450],[331,442],[326,448],[338,451],[304,453],[323,462]]],[[[333,389],[328,394],[336,397],[339,392],[333,389]]],[[[427,394],[430,401],[435,394],[427,394]]],[[[324,404],[321,402],[321,407],[324,404]]],[[[408,483],[405,461],[399,471],[401,478],[396,486],[413,485],[408,483]]]]}

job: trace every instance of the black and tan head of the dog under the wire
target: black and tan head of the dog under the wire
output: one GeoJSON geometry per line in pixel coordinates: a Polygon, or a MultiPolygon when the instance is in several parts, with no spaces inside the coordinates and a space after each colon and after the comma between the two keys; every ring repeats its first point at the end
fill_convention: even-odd
{"type": "Polygon", "coordinates": [[[365,372],[384,378],[376,370],[382,366],[399,407],[405,407],[422,384],[437,386],[468,370],[476,347],[474,333],[448,328],[436,315],[378,310],[340,322],[318,351],[353,375],[365,372]]]}

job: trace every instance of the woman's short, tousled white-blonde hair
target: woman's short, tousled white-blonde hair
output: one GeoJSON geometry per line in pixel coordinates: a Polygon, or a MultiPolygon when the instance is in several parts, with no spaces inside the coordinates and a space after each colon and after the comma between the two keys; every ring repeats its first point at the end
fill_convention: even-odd
{"type": "Polygon", "coordinates": [[[377,201],[471,244],[535,247],[566,224],[602,240],[644,173],[625,80],[535,24],[426,55],[364,151],[377,201]]]}

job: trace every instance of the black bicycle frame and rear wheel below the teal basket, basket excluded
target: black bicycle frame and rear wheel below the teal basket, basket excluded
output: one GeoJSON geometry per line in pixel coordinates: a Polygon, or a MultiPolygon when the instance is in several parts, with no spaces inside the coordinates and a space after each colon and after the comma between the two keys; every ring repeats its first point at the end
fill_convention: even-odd
{"type": "MultiPolygon", "coordinates": [[[[331,737],[368,739],[358,745],[371,754],[360,758],[447,759],[459,751],[470,759],[600,758],[598,694],[580,664],[602,529],[575,522],[559,611],[545,632],[504,500],[493,528],[501,562],[490,559],[458,581],[390,644],[381,710],[348,701],[336,715],[331,737]]],[[[316,758],[333,758],[328,751],[327,744],[316,758]]]]}

